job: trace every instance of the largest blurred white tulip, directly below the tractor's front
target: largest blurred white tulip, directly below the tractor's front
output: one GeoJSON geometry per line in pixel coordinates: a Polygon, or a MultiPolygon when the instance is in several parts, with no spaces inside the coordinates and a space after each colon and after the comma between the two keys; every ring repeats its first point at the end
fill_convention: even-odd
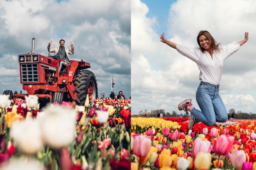
{"type": "Polygon", "coordinates": [[[61,106],[47,106],[43,112],[40,124],[45,144],[54,149],[68,146],[75,138],[77,112],[61,106]]]}

